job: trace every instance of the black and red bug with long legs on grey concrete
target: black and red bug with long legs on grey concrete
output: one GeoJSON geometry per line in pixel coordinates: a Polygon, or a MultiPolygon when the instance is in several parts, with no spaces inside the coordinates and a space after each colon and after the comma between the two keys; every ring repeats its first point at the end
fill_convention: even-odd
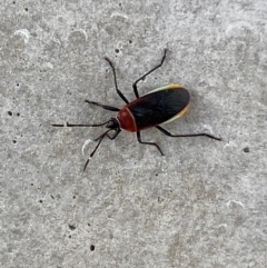
{"type": "Polygon", "coordinates": [[[103,123],[71,125],[67,122],[67,125],[52,125],[53,127],[101,127],[106,125],[106,128],[108,130],[106,130],[102,135],[95,139],[95,141],[98,141],[98,143],[91,152],[90,157],[88,158],[83,171],[86,170],[89,160],[93,157],[103,138],[108,137],[110,140],[113,140],[122,129],[130,132],[136,132],[137,140],[140,143],[156,147],[161,153],[161,156],[164,156],[164,152],[156,142],[142,141],[140,136],[141,130],[156,127],[164,135],[172,138],[205,136],[210,139],[221,140],[221,138],[211,136],[209,133],[172,135],[161,127],[162,123],[170,122],[181,117],[188,110],[190,95],[189,91],[181,85],[167,85],[165,87],[154,89],[150,92],[139,97],[137,90],[138,82],[140,80],[144,80],[148,75],[150,75],[151,72],[154,72],[162,66],[166,58],[166,53],[167,49],[165,49],[164,51],[164,57],[160,63],[152,68],[150,71],[146,72],[142,77],[140,77],[132,83],[134,92],[136,96],[136,99],[132,101],[129,101],[119,90],[115,67],[110,59],[105,58],[112,69],[116,91],[119,95],[119,97],[126,102],[126,105],[121,109],[119,109],[117,107],[106,106],[96,101],[86,100],[86,102],[90,105],[102,107],[106,110],[117,111],[118,113],[116,117],[109,119],[103,123]],[[111,131],[113,132],[112,135],[110,133],[111,131]]]}

